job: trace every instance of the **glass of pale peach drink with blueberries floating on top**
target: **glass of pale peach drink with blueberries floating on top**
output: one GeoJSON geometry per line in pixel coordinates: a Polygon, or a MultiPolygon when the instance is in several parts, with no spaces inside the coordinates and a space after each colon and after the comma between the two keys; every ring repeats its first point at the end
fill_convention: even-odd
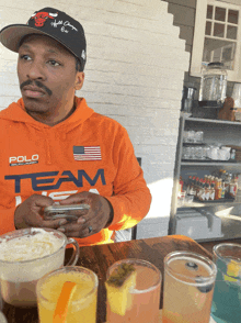
{"type": "Polygon", "coordinates": [[[208,323],[216,265],[190,252],[170,253],[164,258],[163,323],[208,323]]]}

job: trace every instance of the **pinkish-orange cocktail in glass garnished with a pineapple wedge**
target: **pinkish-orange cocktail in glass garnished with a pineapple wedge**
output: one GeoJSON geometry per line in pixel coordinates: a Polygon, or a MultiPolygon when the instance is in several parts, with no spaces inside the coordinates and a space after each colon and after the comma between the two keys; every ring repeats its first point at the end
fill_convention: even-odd
{"type": "Polygon", "coordinates": [[[107,323],[158,323],[161,274],[152,264],[125,259],[108,268],[107,323]]]}

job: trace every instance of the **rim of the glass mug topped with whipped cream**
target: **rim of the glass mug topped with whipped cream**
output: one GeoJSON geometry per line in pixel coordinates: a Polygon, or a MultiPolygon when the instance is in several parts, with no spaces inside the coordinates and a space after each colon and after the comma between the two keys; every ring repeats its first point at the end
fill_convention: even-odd
{"type": "Polygon", "coordinates": [[[57,250],[55,250],[54,253],[51,253],[49,255],[43,256],[43,257],[37,257],[37,258],[32,258],[32,259],[26,259],[26,260],[19,260],[19,261],[16,261],[16,260],[10,261],[10,260],[0,259],[0,263],[1,264],[14,264],[14,265],[16,265],[16,264],[26,264],[26,263],[37,261],[39,259],[45,259],[45,258],[48,258],[48,257],[53,257],[55,254],[57,254],[66,245],[67,236],[64,233],[61,233],[60,231],[58,231],[58,230],[48,229],[48,227],[26,227],[26,229],[20,229],[20,230],[16,230],[16,231],[5,233],[5,234],[0,236],[0,244],[3,242],[4,238],[7,238],[7,240],[8,238],[9,240],[20,238],[20,237],[23,237],[23,236],[26,236],[26,235],[31,235],[34,232],[38,233],[38,232],[41,232],[41,230],[49,232],[49,233],[53,232],[53,233],[59,234],[64,238],[62,244],[57,248],[57,250]]]}

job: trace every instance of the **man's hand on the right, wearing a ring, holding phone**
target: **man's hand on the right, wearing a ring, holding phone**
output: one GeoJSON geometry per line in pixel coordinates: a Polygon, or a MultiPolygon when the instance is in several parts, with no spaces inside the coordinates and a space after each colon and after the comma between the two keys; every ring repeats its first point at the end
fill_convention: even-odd
{"type": "Polygon", "coordinates": [[[79,220],[62,225],[59,230],[67,236],[87,237],[100,232],[112,220],[113,209],[111,203],[100,194],[81,192],[61,200],[59,204],[87,203],[89,210],[79,211],[79,220]]]}

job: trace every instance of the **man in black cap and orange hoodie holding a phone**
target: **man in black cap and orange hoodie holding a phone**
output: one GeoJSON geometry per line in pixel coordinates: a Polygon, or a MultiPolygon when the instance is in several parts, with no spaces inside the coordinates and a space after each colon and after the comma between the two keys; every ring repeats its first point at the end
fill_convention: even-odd
{"type": "Polygon", "coordinates": [[[0,41],[19,53],[22,92],[0,112],[0,233],[39,226],[80,245],[111,242],[147,214],[151,197],[126,130],[74,97],[84,80],[82,25],[44,8],[2,29],[0,41]],[[73,222],[44,220],[56,202],[90,209],[73,222]]]}

